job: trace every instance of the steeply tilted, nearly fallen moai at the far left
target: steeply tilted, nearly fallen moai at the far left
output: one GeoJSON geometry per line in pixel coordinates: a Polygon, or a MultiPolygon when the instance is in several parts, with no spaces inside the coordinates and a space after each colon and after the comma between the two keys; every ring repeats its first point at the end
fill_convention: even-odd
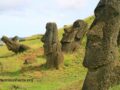
{"type": "Polygon", "coordinates": [[[8,50],[13,51],[15,53],[24,52],[30,49],[30,47],[23,45],[23,44],[19,44],[18,42],[12,39],[9,39],[6,36],[3,36],[1,40],[6,44],[8,50]]]}

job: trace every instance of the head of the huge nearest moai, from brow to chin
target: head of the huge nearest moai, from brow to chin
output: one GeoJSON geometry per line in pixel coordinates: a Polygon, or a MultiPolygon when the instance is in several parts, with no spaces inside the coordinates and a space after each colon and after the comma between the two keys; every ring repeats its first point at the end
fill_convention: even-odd
{"type": "Polygon", "coordinates": [[[86,67],[97,68],[106,65],[115,60],[117,56],[120,16],[115,14],[119,12],[119,9],[116,11],[117,7],[114,1],[101,0],[96,8],[96,18],[87,35],[88,40],[84,59],[84,66],[86,67]]]}

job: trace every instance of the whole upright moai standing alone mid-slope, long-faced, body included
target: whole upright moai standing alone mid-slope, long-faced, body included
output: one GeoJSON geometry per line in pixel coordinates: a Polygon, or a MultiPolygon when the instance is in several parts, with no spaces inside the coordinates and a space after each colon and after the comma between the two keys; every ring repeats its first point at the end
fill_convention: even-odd
{"type": "Polygon", "coordinates": [[[57,25],[55,23],[47,23],[46,33],[41,40],[44,43],[47,67],[59,69],[63,65],[64,57],[61,51],[61,44],[58,40],[57,25]]]}

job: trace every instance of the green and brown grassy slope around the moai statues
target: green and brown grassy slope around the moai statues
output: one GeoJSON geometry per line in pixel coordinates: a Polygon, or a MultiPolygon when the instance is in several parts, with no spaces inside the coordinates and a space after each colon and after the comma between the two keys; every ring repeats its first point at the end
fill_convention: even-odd
{"type": "MultiPolygon", "coordinates": [[[[91,23],[94,17],[85,19],[91,23]]],[[[63,29],[59,31],[61,39],[63,29]]],[[[42,42],[37,36],[27,38],[23,44],[31,46],[31,50],[17,54],[7,50],[5,46],[0,47],[0,79],[9,78],[33,78],[33,82],[2,82],[0,90],[10,90],[11,87],[21,88],[19,90],[79,90],[82,87],[87,70],[82,66],[86,38],[84,38],[81,48],[74,54],[64,54],[64,68],[61,70],[48,70],[42,64],[46,62],[43,56],[42,42]],[[26,58],[35,59],[37,62],[30,65],[23,65],[26,58]],[[2,69],[3,68],[3,69],[2,69]]],[[[120,86],[111,90],[120,90],[120,86]]]]}

